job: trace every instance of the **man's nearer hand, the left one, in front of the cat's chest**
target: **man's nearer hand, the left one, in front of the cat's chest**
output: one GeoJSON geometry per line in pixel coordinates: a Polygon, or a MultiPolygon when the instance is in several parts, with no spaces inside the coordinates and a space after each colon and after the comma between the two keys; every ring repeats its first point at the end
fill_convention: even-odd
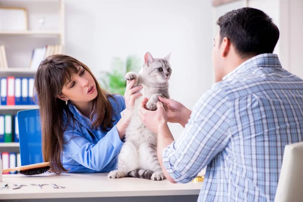
{"type": "Polygon", "coordinates": [[[139,117],[142,123],[151,131],[158,133],[158,129],[162,125],[167,125],[167,114],[161,102],[157,103],[156,111],[149,111],[146,109],[148,99],[145,97],[142,106],[139,110],[139,117]]]}

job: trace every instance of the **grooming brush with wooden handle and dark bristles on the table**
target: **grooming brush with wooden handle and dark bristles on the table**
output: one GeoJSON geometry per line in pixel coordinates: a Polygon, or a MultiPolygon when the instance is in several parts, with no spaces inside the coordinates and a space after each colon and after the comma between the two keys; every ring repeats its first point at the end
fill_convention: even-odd
{"type": "Polygon", "coordinates": [[[51,167],[49,167],[49,165],[51,165],[50,162],[43,162],[38,164],[31,164],[26,166],[4,169],[2,172],[6,173],[10,171],[19,171],[18,174],[21,175],[39,175],[51,170],[51,167]]]}

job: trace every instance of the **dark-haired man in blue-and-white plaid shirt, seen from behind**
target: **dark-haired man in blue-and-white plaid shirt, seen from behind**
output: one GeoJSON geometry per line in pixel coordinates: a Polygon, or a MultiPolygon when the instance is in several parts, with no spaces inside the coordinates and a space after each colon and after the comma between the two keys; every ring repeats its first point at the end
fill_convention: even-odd
{"type": "Polygon", "coordinates": [[[207,166],[199,201],[273,201],[284,146],[302,141],[303,80],[272,54],[279,30],[264,12],[241,8],[217,23],[216,83],[191,112],[159,97],[156,111],[140,109],[158,135],[158,158],[171,182],[186,183],[207,166]],[[174,140],[167,122],[180,123],[174,140]]]}

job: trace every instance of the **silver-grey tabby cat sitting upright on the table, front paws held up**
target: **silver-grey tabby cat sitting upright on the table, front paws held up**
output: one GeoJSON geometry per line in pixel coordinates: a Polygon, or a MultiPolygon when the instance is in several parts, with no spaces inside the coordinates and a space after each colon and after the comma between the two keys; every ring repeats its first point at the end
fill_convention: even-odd
{"type": "Polygon", "coordinates": [[[157,110],[158,95],[169,98],[168,80],[172,70],[169,54],[164,59],[153,58],[149,52],[138,74],[128,72],[126,80],[135,80],[134,86],[142,85],[138,91],[142,96],[135,99],[134,114],[125,130],[125,143],[118,156],[117,170],[109,178],[136,177],[163,180],[165,176],[157,157],[157,134],[147,129],[139,118],[139,108],[144,97],[148,98],[146,108],[157,110]]]}

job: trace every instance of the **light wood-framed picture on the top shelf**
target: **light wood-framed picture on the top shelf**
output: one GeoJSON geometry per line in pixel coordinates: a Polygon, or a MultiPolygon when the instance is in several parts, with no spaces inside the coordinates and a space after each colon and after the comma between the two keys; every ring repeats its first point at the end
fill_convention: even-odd
{"type": "Polygon", "coordinates": [[[27,30],[26,9],[0,7],[0,30],[27,30]]]}

